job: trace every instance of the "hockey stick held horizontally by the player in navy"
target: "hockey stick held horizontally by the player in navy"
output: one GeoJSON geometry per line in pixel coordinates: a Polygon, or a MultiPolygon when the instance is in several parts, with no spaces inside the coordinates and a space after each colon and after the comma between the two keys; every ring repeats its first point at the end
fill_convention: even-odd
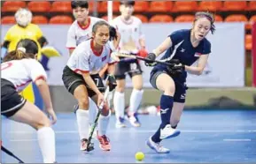
{"type": "Polygon", "coordinates": [[[135,56],[135,55],[130,55],[130,54],[124,54],[124,53],[120,53],[120,52],[112,52],[113,56],[119,56],[119,57],[128,57],[128,58],[134,58],[134,59],[138,59],[138,60],[143,60],[145,62],[151,62],[151,63],[163,63],[163,64],[167,64],[168,66],[175,66],[175,64],[179,64],[179,60],[173,59],[173,60],[150,60],[147,58],[144,58],[142,56],[135,56]]]}

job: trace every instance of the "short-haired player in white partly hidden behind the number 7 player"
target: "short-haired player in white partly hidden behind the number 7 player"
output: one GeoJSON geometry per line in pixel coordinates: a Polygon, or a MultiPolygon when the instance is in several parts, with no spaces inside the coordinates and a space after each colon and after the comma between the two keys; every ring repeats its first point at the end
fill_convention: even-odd
{"type": "MultiPolygon", "coordinates": [[[[92,26],[94,26],[97,21],[104,20],[89,16],[89,4],[87,1],[72,1],[71,7],[73,9],[75,20],[69,27],[66,39],[66,48],[69,49],[70,55],[81,41],[86,41],[91,38],[92,26]]],[[[120,35],[117,34],[115,29],[112,27],[110,35],[116,39],[113,41],[113,45],[114,47],[117,47],[120,35]]]]}

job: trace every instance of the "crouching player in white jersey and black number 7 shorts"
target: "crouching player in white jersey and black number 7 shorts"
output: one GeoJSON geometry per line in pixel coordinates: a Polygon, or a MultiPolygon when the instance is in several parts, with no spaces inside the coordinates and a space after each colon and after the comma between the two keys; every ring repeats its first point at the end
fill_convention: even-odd
{"type": "MultiPolygon", "coordinates": [[[[108,71],[113,74],[114,61],[111,57],[109,41],[109,25],[105,21],[98,21],[92,28],[92,39],[82,41],[70,56],[63,71],[63,82],[69,93],[78,101],[79,109],[76,111],[78,130],[81,138],[81,150],[87,150],[89,138],[90,106],[104,101],[105,86],[98,72],[109,64],[108,71]],[[89,99],[91,98],[91,99],[89,99]],[[93,100],[93,101],[90,101],[93,100]]],[[[97,139],[100,148],[109,151],[111,145],[106,137],[111,111],[107,104],[98,120],[97,139]]]]}

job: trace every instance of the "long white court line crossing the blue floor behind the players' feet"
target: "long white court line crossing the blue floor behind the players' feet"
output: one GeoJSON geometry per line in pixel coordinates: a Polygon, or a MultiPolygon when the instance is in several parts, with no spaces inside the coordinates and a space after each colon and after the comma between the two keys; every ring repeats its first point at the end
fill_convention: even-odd
{"type": "MultiPolygon", "coordinates": [[[[108,133],[149,133],[155,132],[156,130],[135,130],[135,129],[123,129],[123,130],[108,130],[108,133]]],[[[181,130],[185,133],[254,133],[256,130],[181,130]]],[[[8,131],[11,134],[32,134],[35,131],[8,131]]],[[[68,133],[78,133],[77,130],[55,130],[57,134],[68,134],[68,133]]]]}

